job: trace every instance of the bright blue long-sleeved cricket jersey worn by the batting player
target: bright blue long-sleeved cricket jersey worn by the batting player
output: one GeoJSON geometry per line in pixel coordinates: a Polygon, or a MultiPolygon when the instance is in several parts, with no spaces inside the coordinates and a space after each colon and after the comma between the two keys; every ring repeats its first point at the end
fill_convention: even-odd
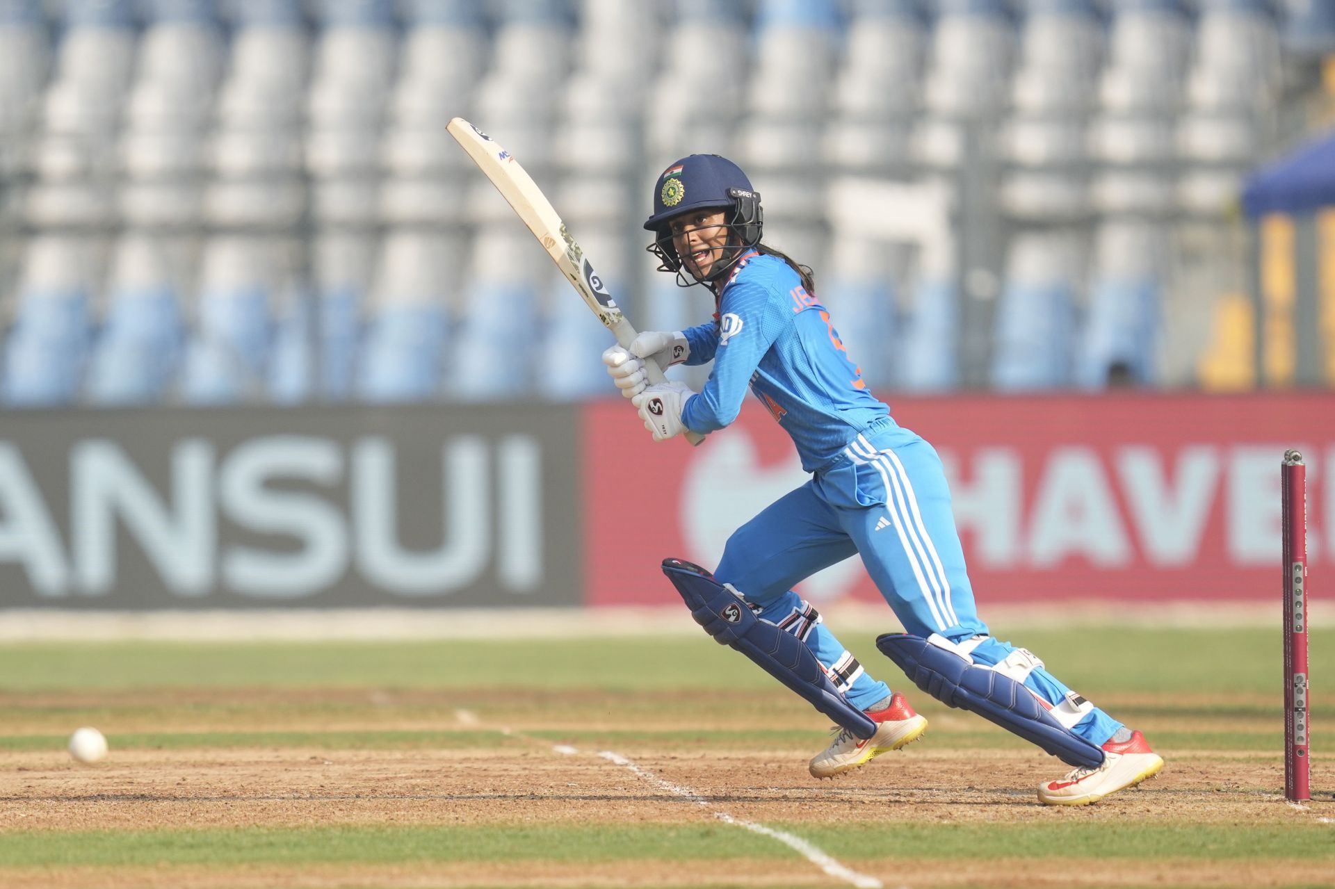
{"type": "Polygon", "coordinates": [[[714,362],[704,391],[682,408],[694,432],[737,419],[749,386],[792,436],[802,469],[814,473],[873,423],[889,420],[829,312],[778,256],[744,255],[720,292],[717,319],[684,332],[688,364],[714,362]]]}

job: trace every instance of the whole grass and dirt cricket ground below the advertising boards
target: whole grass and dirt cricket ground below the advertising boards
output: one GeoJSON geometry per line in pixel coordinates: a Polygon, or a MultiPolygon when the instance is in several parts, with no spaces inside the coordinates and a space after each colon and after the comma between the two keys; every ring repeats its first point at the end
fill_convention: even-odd
{"type": "Polygon", "coordinates": [[[1037,635],[1161,777],[1039,806],[1061,764],[914,693],[924,741],[817,782],[821,718],[702,638],[11,647],[0,885],[1335,885],[1335,804],[1279,794],[1272,634],[1128,633],[1161,657],[1120,689],[1037,635]],[[80,723],[104,764],[60,750],[80,723]]]}

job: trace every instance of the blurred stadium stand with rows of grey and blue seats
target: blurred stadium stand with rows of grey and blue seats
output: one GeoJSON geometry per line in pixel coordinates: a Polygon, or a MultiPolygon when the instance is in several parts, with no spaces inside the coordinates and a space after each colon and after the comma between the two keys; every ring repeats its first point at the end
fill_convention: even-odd
{"type": "Polygon", "coordinates": [[[716,152],[881,391],[1327,386],[1331,53],[1335,0],[0,0],[0,399],[606,395],[455,115],[641,328],[712,311],[641,223],[716,152]]]}

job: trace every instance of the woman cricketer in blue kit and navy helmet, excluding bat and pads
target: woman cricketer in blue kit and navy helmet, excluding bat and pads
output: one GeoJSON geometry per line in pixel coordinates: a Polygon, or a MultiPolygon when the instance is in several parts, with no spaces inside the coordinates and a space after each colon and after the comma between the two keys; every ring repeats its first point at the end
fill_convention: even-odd
{"type": "Polygon", "coordinates": [[[805,642],[850,710],[874,723],[870,738],[840,730],[810,761],[812,776],[857,769],[926,729],[905,697],[874,679],[793,591],[854,553],[906,633],[929,642],[928,651],[949,651],[961,666],[1023,683],[1048,725],[1088,748],[1091,762],[1101,760],[1041,784],[1041,802],[1084,805],[1156,774],[1163,760],[1140,731],[1067,689],[1027,649],[992,638],[979,619],[940,458],[866,390],[810,270],[761,242],[760,195],[745,174],[718,155],[678,160],[658,178],[645,228],[654,234],[649,251],[659,271],[677,275],[681,286],[708,287],[717,312],[697,327],[643,332],[629,350],[609,348],[603,362],[617,387],[654,440],[724,428],[750,388],[812,474],[728,539],[710,578],[761,621],[805,642]],[[649,358],[665,367],[714,364],[694,392],[677,382],[649,386],[649,358]]]}

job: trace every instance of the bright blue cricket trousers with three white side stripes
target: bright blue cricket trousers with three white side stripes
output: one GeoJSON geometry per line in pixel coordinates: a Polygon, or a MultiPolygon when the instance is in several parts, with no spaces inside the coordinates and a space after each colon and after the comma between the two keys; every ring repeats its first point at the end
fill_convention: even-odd
{"type": "MultiPolygon", "coordinates": [[[[973,659],[988,665],[1016,650],[991,638],[979,619],[940,457],[889,419],[740,527],[714,574],[758,606],[764,619],[804,639],[853,706],[866,707],[886,697],[889,686],[873,679],[793,591],[854,553],[905,631],[971,645],[973,659]]],[[[1024,683],[1052,705],[1069,691],[1043,667],[1024,683]]],[[[1120,727],[1096,707],[1075,731],[1103,744],[1120,727]]]]}

